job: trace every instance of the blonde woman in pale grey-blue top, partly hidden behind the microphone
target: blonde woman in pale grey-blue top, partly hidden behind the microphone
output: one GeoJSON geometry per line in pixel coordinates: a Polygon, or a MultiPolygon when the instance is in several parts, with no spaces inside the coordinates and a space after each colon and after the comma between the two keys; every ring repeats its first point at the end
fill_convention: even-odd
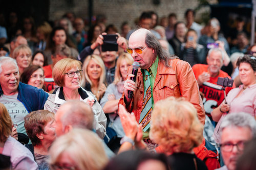
{"type": "MultiPolygon", "coordinates": [[[[124,136],[123,128],[121,125],[120,117],[117,114],[118,102],[123,94],[123,84],[127,75],[127,68],[133,64],[134,60],[131,54],[122,53],[119,55],[116,62],[115,79],[108,88],[100,101],[100,105],[104,113],[109,113],[111,124],[109,127],[113,128],[117,133],[119,140],[124,136]]],[[[119,144],[120,142],[118,142],[119,144]]],[[[117,145],[118,145],[117,144],[117,145]]],[[[120,146],[120,145],[119,145],[120,146]]]]}

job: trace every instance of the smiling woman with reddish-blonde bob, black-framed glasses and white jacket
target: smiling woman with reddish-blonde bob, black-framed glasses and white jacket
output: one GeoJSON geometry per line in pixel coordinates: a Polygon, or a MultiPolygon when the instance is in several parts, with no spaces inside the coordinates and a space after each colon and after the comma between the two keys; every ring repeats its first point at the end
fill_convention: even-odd
{"type": "Polygon", "coordinates": [[[49,95],[45,110],[56,113],[59,106],[68,100],[84,101],[92,106],[95,117],[94,129],[103,138],[106,133],[106,116],[95,95],[81,87],[81,65],[80,61],[69,58],[61,59],[54,65],[52,76],[59,87],[49,95]]]}

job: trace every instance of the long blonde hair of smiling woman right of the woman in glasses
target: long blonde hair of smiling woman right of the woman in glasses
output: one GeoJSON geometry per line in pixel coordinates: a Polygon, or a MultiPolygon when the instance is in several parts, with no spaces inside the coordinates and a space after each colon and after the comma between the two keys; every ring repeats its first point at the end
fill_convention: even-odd
{"type": "Polygon", "coordinates": [[[101,87],[101,84],[105,81],[105,66],[104,66],[103,60],[98,55],[87,56],[86,60],[84,60],[83,66],[82,66],[82,69],[83,69],[83,72],[84,72],[83,73],[84,77],[82,79],[82,83],[81,84],[82,84],[82,86],[85,86],[86,82],[89,82],[90,85],[93,86],[93,83],[90,80],[88,72],[87,72],[87,67],[88,67],[88,65],[89,65],[91,60],[93,60],[97,64],[99,64],[100,68],[102,69],[101,75],[99,77],[99,86],[97,87],[97,89],[99,90],[99,88],[101,87]]]}

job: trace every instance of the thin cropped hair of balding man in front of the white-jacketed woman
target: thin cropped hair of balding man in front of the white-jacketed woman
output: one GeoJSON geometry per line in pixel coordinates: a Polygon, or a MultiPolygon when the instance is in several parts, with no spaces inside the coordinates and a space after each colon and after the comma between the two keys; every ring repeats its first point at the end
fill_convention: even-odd
{"type": "Polygon", "coordinates": [[[69,107],[61,117],[62,128],[71,125],[73,128],[93,129],[94,113],[91,106],[78,100],[67,101],[62,106],[69,107]]]}

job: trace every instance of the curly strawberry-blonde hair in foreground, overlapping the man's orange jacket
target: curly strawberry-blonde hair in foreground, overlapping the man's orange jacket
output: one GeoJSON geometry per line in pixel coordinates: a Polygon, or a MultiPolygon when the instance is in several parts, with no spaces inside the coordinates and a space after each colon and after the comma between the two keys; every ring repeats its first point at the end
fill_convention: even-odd
{"type": "Polygon", "coordinates": [[[203,140],[203,125],[193,104],[169,97],[156,103],[151,117],[150,138],[166,152],[190,152],[203,140]]]}

